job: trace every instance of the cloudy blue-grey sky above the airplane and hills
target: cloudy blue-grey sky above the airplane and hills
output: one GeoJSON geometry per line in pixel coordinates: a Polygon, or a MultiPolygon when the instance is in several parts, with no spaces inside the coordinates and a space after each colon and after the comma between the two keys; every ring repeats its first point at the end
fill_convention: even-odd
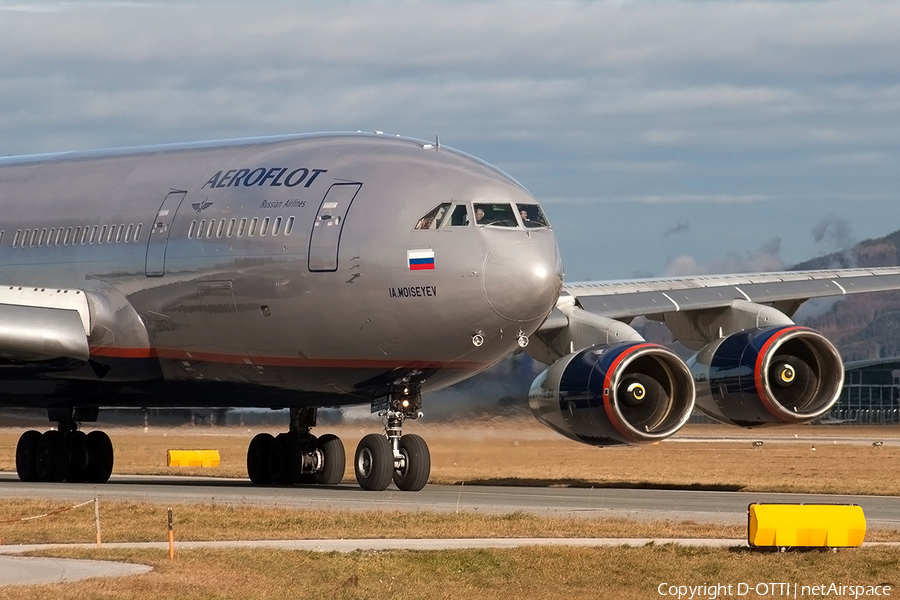
{"type": "Polygon", "coordinates": [[[440,135],[545,206],[569,281],[900,229],[896,0],[0,0],[0,57],[0,155],[440,135]]]}

